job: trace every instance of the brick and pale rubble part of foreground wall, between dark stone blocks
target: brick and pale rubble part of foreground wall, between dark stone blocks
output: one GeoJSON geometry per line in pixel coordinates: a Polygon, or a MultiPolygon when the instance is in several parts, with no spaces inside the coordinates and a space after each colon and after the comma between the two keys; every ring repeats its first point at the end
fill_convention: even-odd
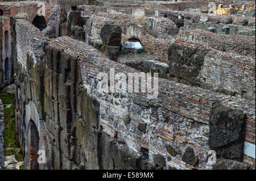
{"type": "MultiPolygon", "coordinates": [[[[232,107],[239,107],[238,109],[244,110],[248,110],[245,105],[250,105],[248,112],[246,111],[247,125],[249,124],[249,127],[254,129],[250,125],[251,123],[255,124],[254,115],[251,115],[254,114],[253,103],[246,100],[234,100],[230,96],[184,86],[163,79],[159,80],[160,95],[158,99],[154,100],[147,100],[144,94],[123,94],[122,100],[121,95],[99,94],[95,91],[97,86],[96,76],[99,70],[105,73],[108,73],[110,68],[115,68],[117,72],[135,70],[125,65],[108,61],[100,52],[92,50],[89,45],[68,37],[61,37],[52,41],[49,47],[54,47],[72,57],[79,58],[82,84],[88,90],[88,96],[96,99],[100,104],[100,119],[96,122],[92,120],[86,120],[86,122],[89,121],[89,124],[94,125],[93,127],[95,128],[100,125],[100,129],[103,129],[103,132],[109,134],[112,138],[117,137],[125,141],[138,153],[143,148],[148,149],[149,162],[152,162],[155,154],[158,153],[166,158],[170,156],[165,147],[166,144],[170,144],[175,147],[178,154],[171,157],[172,161],[168,161],[167,164],[180,169],[185,167],[189,169],[191,166],[182,162],[181,157],[187,146],[191,146],[200,160],[198,167],[200,169],[207,168],[209,165],[206,163],[207,155],[205,155],[205,150],[209,149],[207,146],[208,124],[213,108],[220,102],[225,106],[230,107],[233,104],[232,107]],[[92,84],[92,82],[94,83],[92,84]],[[170,100],[169,98],[172,99],[170,100]],[[106,112],[106,110],[109,111],[106,112]],[[129,116],[129,125],[125,125],[120,121],[126,116],[129,116]],[[143,123],[147,123],[146,130],[144,132],[138,131],[137,128],[143,123]],[[170,124],[172,127],[170,127],[170,124]],[[197,136],[193,135],[195,132],[197,132],[197,136]],[[192,138],[195,136],[200,139],[192,138]]],[[[244,161],[247,161],[246,157],[245,155],[244,161]]],[[[251,161],[249,162],[254,164],[251,161]]]]}

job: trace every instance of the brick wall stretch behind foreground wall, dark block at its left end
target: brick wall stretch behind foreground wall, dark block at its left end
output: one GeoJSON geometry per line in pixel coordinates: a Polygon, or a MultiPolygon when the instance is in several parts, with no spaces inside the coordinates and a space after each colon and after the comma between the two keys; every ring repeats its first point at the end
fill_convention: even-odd
{"type": "MultiPolygon", "coordinates": [[[[228,45],[226,45],[226,47],[228,47],[228,45]]],[[[193,52],[193,50],[190,52],[193,52]]],[[[197,86],[204,87],[204,89],[210,89],[228,95],[239,95],[247,99],[255,98],[254,57],[242,56],[230,51],[221,52],[207,47],[207,45],[200,43],[200,41],[191,41],[184,37],[177,38],[174,43],[171,44],[170,51],[169,71],[175,77],[180,77],[194,85],[200,82],[197,86]],[[185,52],[185,50],[189,48],[197,52],[199,50],[206,50],[201,59],[203,62],[196,68],[199,69],[200,73],[197,72],[198,74],[195,75],[191,70],[193,66],[195,66],[193,64],[196,64],[196,62],[193,62],[192,59],[189,59],[192,61],[191,64],[187,61],[182,61],[184,58],[183,53],[187,59],[189,58],[189,53],[185,52]],[[175,52],[174,49],[177,49],[177,51],[175,52]],[[179,50],[183,50],[183,53],[179,53],[179,50]],[[176,58],[176,56],[178,56],[178,58],[176,58]],[[179,60],[181,61],[179,62],[179,60]],[[185,66],[188,66],[188,68],[183,70],[185,66]],[[175,71],[177,71],[177,73],[175,71]],[[186,73],[188,73],[188,75],[186,73]]],[[[199,54],[197,54],[197,56],[199,56],[199,54]]]]}

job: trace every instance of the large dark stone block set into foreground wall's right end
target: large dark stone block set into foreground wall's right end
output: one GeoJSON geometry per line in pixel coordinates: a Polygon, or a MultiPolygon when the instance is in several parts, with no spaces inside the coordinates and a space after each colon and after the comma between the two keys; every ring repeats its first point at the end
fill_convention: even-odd
{"type": "Polygon", "coordinates": [[[246,115],[223,105],[210,118],[209,146],[218,157],[242,161],[246,115]]]}

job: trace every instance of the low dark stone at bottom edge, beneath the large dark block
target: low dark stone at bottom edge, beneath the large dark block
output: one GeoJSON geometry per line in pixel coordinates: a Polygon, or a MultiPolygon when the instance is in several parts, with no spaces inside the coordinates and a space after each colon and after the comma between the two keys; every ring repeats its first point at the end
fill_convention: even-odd
{"type": "Polygon", "coordinates": [[[213,165],[213,170],[250,170],[249,164],[234,161],[232,159],[220,158],[213,165]]]}

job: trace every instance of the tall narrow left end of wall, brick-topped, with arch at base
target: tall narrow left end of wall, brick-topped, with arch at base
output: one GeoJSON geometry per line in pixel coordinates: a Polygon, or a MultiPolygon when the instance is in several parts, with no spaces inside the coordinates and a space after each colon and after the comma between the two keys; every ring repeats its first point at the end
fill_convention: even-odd
{"type": "MultiPolygon", "coordinates": [[[[39,164],[40,169],[50,169],[48,138],[46,136],[46,126],[43,118],[43,97],[42,77],[36,68],[36,62],[43,61],[44,52],[42,50],[46,40],[42,32],[27,22],[26,20],[16,20],[15,22],[15,60],[14,70],[16,76],[15,89],[15,117],[19,127],[19,144],[25,155],[24,164],[26,169],[33,169],[37,162],[39,150],[46,153],[46,162],[39,164]],[[36,127],[31,131],[31,123],[36,127]],[[31,138],[38,135],[39,140],[34,143],[31,138]],[[34,145],[38,145],[36,148],[34,145]],[[33,154],[31,154],[33,150],[33,154]]],[[[40,64],[40,63],[39,63],[40,64]]],[[[39,68],[40,69],[40,68],[39,68]]]]}

